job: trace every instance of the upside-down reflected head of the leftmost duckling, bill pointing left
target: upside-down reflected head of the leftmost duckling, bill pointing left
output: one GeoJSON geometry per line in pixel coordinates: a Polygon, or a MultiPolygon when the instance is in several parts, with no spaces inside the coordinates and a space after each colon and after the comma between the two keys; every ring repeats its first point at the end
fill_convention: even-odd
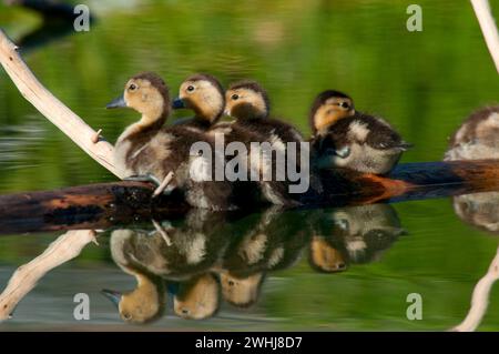
{"type": "Polygon", "coordinates": [[[139,284],[129,293],[103,290],[102,294],[116,305],[124,322],[144,324],[161,317],[164,312],[164,290],[157,284],[139,284]]]}

